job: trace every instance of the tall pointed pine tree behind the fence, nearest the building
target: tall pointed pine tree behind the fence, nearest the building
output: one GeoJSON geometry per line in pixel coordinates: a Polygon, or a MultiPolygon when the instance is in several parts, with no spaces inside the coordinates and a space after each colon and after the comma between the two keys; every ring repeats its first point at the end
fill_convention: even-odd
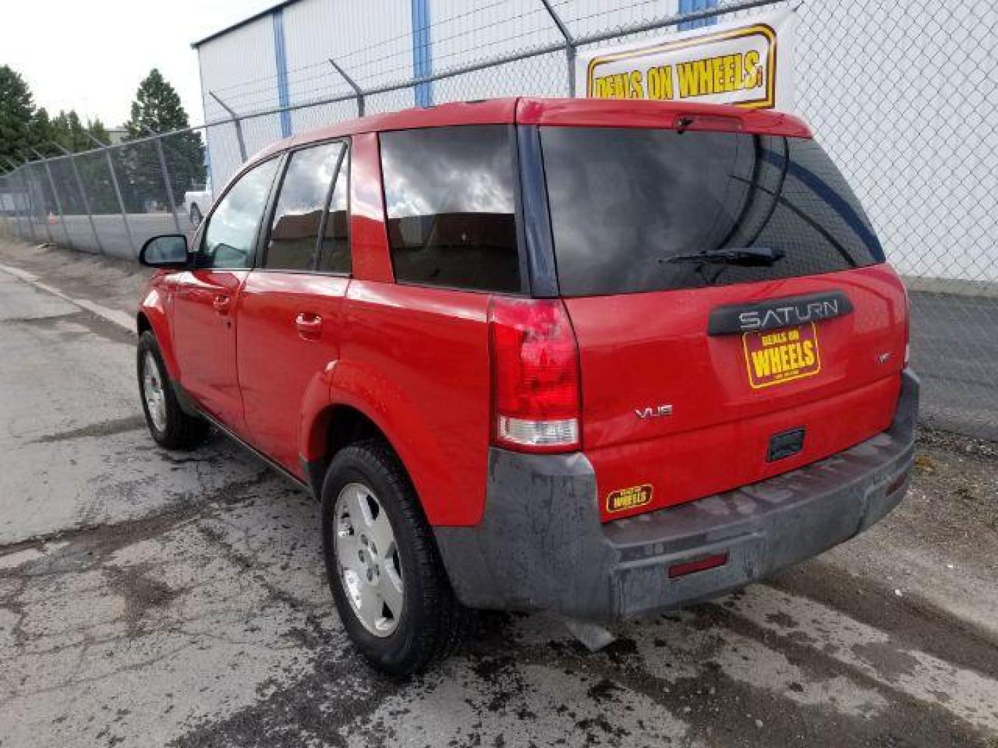
{"type": "MultiPolygon", "coordinates": [[[[187,112],[177,91],[159,70],[153,68],[139,85],[132,103],[132,116],[125,124],[130,140],[146,138],[152,133],[183,130],[189,125],[187,112]]],[[[174,199],[180,202],[185,191],[205,181],[205,146],[201,135],[195,132],[173,135],[162,143],[174,199]]],[[[133,186],[129,190],[133,193],[130,201],[133,203],[149,200],[167,203],[163,173],[155,149],[153,143],[136,144],[126,149],[133,186]]]]}

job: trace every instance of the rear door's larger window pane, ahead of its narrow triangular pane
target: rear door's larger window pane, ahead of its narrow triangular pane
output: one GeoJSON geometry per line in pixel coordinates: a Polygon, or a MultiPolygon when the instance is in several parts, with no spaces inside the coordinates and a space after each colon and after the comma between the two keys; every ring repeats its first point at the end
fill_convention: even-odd
{"type": "Polygon", "coordinates": [[[263,267],[312,269],[322,210],[343,150],[342,143],[329,143],[290,155],[273,211],[263,267]]]}

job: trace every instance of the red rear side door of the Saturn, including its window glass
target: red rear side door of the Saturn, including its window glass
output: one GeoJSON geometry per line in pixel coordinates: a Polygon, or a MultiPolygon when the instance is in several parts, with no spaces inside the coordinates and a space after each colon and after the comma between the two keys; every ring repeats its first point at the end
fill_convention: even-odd
{"type": "Polygon", "coordinates": [[[347,144],[288,155],[263,252],[240,298],[239,376],[250,438],[295,475],[309,388],[339,356],[349,283],[347,144]],[[328,206],[328,208],[327,208],[328,206]]]}

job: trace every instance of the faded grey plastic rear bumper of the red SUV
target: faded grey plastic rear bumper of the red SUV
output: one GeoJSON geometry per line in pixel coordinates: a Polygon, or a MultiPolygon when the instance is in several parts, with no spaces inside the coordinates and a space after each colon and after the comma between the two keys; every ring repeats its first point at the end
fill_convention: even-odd
{"type": "Polygon", "coordinates": [[[715,597],[816,556],[904,496],[918,379],[908,370],[902,378],[894,421],[872,439],[752,486],[606,525],[584,455],[493,449],[482,522],[434,529],[454,590],[471,607],[610,621],[715,597]],[[722,566],[669,577],[676,563],[722,553],[722,566]]]}

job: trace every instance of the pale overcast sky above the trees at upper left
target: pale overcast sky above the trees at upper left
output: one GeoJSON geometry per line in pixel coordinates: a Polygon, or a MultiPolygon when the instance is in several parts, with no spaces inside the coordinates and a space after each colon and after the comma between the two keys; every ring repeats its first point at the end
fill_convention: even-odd
{"type": "Polygon", "coordinates": [[[35,106],[75,109],[123,125],[139,83],[159,68],[191,124],[204,122],[198,53],[191,43],[274,0],[6,0],[0,65],[24,76],[35,106]],[[169,8],[169,13],[164,9],[169,8]]]}

